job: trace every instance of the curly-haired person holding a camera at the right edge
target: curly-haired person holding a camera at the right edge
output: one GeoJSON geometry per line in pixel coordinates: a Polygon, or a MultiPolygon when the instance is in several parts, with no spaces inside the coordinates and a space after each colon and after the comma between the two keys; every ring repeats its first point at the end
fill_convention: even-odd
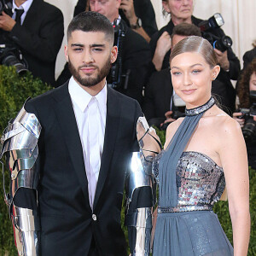
{"type": "Polygon", "coordinates": [[[233,118],[240,124],[247,143],[249,166],[256,169],[256,58],[247,65],[237,86],[239,109],[233,118]],[[253,95],[254,94],[254,95],[253,95]]]}

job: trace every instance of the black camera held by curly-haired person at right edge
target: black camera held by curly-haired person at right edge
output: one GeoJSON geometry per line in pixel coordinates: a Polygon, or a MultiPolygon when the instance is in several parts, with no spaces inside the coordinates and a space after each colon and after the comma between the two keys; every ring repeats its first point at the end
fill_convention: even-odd
{"type": "MultiPolygon", "coordinates": [[[[250,97],[256,99],[256,90],[250,91],[250,97]]],[[[250,108],[240,108],[239,112],[242,115],[237,118],[245,119],[244,126],[241,128],[243,137],[247,143],[250,143],[256,138],[256,121],[253,120],[253,116],[256,116],[256,102],[253,102],[250,108]]]]}

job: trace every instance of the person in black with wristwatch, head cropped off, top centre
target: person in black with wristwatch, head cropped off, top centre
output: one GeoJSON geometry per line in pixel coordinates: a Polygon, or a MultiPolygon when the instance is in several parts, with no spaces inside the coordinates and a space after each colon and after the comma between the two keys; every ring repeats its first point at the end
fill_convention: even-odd
{"type": "MultiPolygon", "coordinates": [[[[79,0],[74,10],[74,16],[84,10],[89,10],[88,2],[88,0],[79,0]]],[[[150,0],[121,0],[119,14],[126,24],[143,36],[147,42],[158,31],[154,8],[150,0]]]]}

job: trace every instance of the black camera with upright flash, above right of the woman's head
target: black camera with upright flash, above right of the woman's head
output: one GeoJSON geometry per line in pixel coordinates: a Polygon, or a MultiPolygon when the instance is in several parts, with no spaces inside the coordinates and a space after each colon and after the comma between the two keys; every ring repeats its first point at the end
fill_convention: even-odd
{"type": "Polygon", "coordinates": [[[226,49],[229,49],[233,42],[232,39],[228,36],[218,37],[212,34],[214,28],[218,28],[224,25],[224,19],[222,15],[215,14],[212,15],[208,20],[202,21],[198,26],[201,29],[201,34],[203,38],[206,38],[213,48],[219,49],[224,52],[226,49]]]}

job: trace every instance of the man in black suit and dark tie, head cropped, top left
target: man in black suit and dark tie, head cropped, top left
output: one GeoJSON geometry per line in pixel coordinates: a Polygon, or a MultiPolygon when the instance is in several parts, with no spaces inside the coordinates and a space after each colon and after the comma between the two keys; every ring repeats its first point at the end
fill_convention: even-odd
{"type": "Polygon", "coordinates": [[[12,17],[0,15],[0,28],[21,50],[28,70],[54,86],[55,61],[64,35],[61,10],[43,0],[15,0],[13,9],[12,17]]]}

